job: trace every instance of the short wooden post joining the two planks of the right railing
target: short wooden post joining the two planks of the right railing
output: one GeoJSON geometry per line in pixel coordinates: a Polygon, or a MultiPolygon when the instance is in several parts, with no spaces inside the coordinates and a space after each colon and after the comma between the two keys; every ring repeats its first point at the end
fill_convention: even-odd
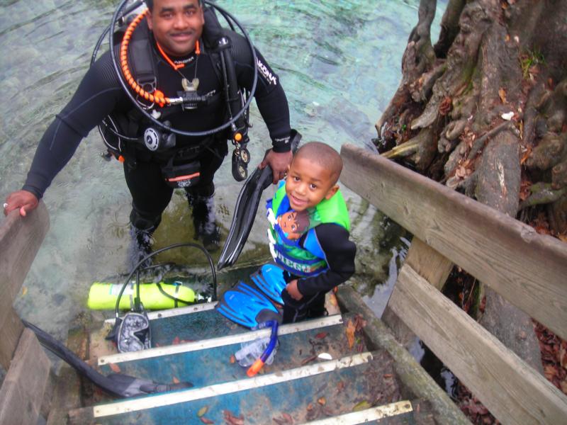
{"type": "MultiPolygon", "coordinates": [[[[447,257],[442,256],[431,246],[422,242],[419,238],[413,237],[412,244],[408,250],[408,256],[405,257],[405,263],[409,264],[422,278],[441,290],[449,277],[449,273],[453,269],[453,263],[447,257]]],[[[392,296],[395,296],[392,294],[392,296]]],[[[382,314],[382,320],[392,330],[400,344],[408,350],[415,344],[415,333],[406,326],[403,319],[398,317],[392,309],[386,305],[386,309],[382,314]]]]}

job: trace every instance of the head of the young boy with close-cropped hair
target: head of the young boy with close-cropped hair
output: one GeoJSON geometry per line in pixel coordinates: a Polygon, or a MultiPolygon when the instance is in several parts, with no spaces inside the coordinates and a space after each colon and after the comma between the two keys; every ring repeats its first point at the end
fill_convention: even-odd
{"type": "Polygon", "coordinates": [[[298,149],[288,169],[286,194],[291,208],[303,211],[339,190],[342,159],[325,143],[309,142],[298,149]]]}

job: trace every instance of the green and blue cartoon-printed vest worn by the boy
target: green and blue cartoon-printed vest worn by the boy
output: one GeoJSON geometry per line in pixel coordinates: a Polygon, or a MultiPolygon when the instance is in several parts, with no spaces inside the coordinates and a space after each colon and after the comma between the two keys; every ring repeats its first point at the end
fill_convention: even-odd
{"type": "Polygon", "coordinates": [[[316,226],[334,223],[350,230],[347,204],[340,191],[314,208],[296,212],[290,208],[285,182],[280,181],[274,198],[266,203],[266,210],[271,255],[276,263],[296,276],[316,276],[329,268],[315,234],[316,226]]]}

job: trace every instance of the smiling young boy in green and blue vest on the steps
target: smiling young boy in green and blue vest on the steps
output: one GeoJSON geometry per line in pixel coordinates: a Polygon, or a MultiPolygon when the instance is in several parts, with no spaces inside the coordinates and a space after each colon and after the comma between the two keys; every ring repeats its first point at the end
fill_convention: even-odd
{"type": "Polygon", "coordinates": [[[321,142],[303,145],[266,208],[270,251],[286,272],[283,323],[325,314],[325,294],[354,273],[357,247],[337,181],[342,159],[321,142]]]}

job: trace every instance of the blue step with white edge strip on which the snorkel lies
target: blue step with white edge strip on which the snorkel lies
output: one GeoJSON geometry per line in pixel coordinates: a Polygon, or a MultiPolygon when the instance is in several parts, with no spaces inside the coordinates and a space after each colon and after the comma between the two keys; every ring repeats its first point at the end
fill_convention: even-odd
{"type": "MultiPolygon", "coordinates": [[[[167,347],[150,348],[133,353],[119,353],[99,358],[104,375],[120,371],[126,375],[156,382],[191,382],[195,387],[241,379],[246,368],[234,362],[232,356],[242,342],[269,336],[269,329],[245,331],[167,347]]],[[[349,348],[340,315],[322,317],[279,328],[279,347],[274,363],[264,365],[265,373],[296,368],[315,361],[326,353],[330,358],[351,354],[358,346],[349,348]]],[[[364,349],[364,347],[362,347],[364,349]]]]}

